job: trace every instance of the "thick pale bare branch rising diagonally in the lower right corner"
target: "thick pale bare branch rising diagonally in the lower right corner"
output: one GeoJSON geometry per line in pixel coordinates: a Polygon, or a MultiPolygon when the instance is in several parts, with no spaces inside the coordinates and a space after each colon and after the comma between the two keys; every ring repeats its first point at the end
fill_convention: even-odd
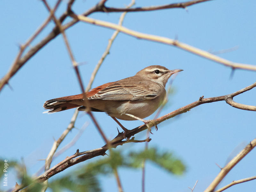
{"type": "Polygon", "coordinates": [[[240,153],[238,153],[229,163],[223,167],[220,173],[215,177],[212,183],[204,190],[204,192],[213,191],[221,180],[228,174],[228,172],[246,156],[256,146],[256,138],[252,140],[240,153]]]}

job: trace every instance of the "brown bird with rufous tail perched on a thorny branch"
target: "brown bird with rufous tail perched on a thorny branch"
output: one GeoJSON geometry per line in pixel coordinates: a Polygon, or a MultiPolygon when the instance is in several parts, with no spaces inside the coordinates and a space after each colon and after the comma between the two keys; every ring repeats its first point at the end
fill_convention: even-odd
{"type": "Polygon", "coordinates": [[[141,120],[153,114],[162,104],[165,95],[165,85],[168,79],[182,69],[169,70],[160,65],[148,66],[134,76],[115,82],[102,84],[84,94],[59,97],[44,102],[44,113],[55,113],[71,108],[85,111],[105,112],[112,117],[124,130],[127,129],[117,120],[141,120]]]}

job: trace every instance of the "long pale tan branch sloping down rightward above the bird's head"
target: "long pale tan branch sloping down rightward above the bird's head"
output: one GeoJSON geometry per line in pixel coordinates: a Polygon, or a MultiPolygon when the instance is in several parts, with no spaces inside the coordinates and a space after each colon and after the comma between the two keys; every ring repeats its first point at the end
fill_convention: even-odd
{"type": "Polygon", "coordinates": [[[213,55],[213,54],[211,54],[207,51],[198,49],[196,47],[193,47],[193,46],[185,44],[185,43],[181,43],[178,40],[174,40],[174,39],[170,39],[170,38],[162,37],[162,36],[150,35],[150,34],[146,34],[146,33],[140,33],[140,32],[125,28],[123,26],[116,25],[114,23],[92,19],[92,18],[89,18],[89,17],[85,17],[83,15],[74,15],[73,14],[71,16],[78,19],[78,20],[84,21],[86,23],[91,23],[93,25],[98,25],[98,26],[101,26],[101,27],[106,27],[106,28],[119,30],[122,33],[128,34],[130,36],[134,36],[134,37],[137,37],[137,38],[140,38],[140,39],[145,39],[145,40],[149,40],[149,41],[155,41],[155,42],[159,42],[159,43],[163,43],[163,44],[173,45],[173,46],[176,46],[176,47],[178,47],[180,49],[183,49],[185,51],[188,51],[188,52],[194,53],[196,55],[199,55],[201,57],[204,57],[206,59],[213,60],[217,63],[223,64],[227,67],[256,71],[256,66],[255,65],[248,65],[248,64],[243,64],[243,63],[231,62],[229,60],[226,60],[226,59],[223,59],[223,58],[218,57],[216,55],[213,55]]]}

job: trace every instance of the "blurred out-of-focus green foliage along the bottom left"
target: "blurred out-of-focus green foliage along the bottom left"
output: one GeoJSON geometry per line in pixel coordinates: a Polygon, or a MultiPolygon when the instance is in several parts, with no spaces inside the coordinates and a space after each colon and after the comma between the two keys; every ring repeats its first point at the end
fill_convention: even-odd
{"type": "MultiPolygon", "coordinates": [[[[150,161],[157,164],[164,170],[180,175],[184,172],[185,166],[181,161],[172,156],[170,152],[161,152],[156,148],[149,148],[140,152],[131,152],[123,155],[120,151],[111,150],[109,156],[101,157],[99,160],[88,163],[78,170],[69,172],[63,177],[49,181],[48,187],[53,192],[74,191],[74,192],[100,192],[99,175],[112,174],[113,170],[119,167],[141,168],[144,161],[150,161]]],[[[24,165],[18,165],[16,162],[8,162],[9,166],[16,165],[18,176],[22,185],[29,185],[33,182],[32,178],[26,173],[24,165]]],[[[0,161],[0,166],[4,162],[0,161]]],[[[40,191],[42,183],[33,183],[26,188],[28,192],[40,191]]]]}

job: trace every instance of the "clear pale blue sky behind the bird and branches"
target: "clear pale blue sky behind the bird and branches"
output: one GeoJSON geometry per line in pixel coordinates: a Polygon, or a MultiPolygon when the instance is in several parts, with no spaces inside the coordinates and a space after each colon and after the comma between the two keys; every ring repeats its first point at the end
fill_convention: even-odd
{"type": "MultiPolygon", "coordinates": [[[[168,4],[176,1],[137,1],[135,6],[168,4]]],[[[57,11],[60,15],[66,8],[62,2],[57,11]]],[[[76,1],[73,9],[82,13],[97,1],[76,1]]],[[[107,6],[123,7],[129,1],[111,1],[107,6]]],[[[54,2],[51,2],[53,5],[54,2]]],[[[184,9],[168,9],[152,12],[128,13],[124,26],[143,33],[177,37],[179,41],[206,51],[219,51],[238,46],[232,52],[218,56],[234,62],[255,65],[256,22],[255,1],[209,1],[184,9]]],[[[18,44],[28,37],[48,16],[41,1],[5,1],[1,11],[0,76],[10,68],[17,52],[18,44]]],[[[117,23],[121,13],[93,13],[92,18],[117,23]]],[[[32,46],[40,42],[54,26],[53,22],[35,39],[32,46]]],[[[91,73],[104,52],[108,39],[114,31],[86,23],[78,23],[67,30],[68,40],[77,62],[83,62],[79,69],[84,85],[88,84],[91,73]]],[[[161,112],[161,116],[177,108],[198,100],[204,95],[214,97],[229,94],[255,82],[255,72],[235,70],[230,78],[231,69],[213,61],[193,55],[176,47],[139,40],[119,34],[114,41],[110,54],[101,66],[93,87],[107,82],[133,76],[149,65],[162,65],[169,69],[180,68],[172,84],[174,92],[161,112]]],[[[1,99],[1,140],[0,155],[8,160],[24,158],[30,174],[35,173],[53,143],[66,129],[74,110],[42,114],[43,103],[56,97],[79,94],[80,87],[66,50],[63,38],[56,37],[10,80],[13,91],[5,86],[0,92],[1,99]]],[[[234,98],[236,102],[256,105],[256,89],[234,98]]],[[[100,126],[109,139],[116,136],[117,124],[104,113],[94,113],[100,126]]],[[[153,118],[154,115],[147,119],[153,118]]],[[[204,190],[218,174],[220,169],[215,163],[224,166],[245,144],[255,138],[256,113],[232,108],[225,101],[200,105],[191,111],[158,125],[158,131],[150,135],[150,147],[168,150],[182,159],[187,171],[182,176],[170,175],[154,164],[146,164],[146,191],[190,191],[198,180],[195,192],[204,190]]],[[[80,129],[85,122],[89,126],[74,146],[56,158],[57,164],[66,156],[80,151],[99,148],[104,141],[87,115],[80,113],[76,127],[80,129]]],[[[141,125],[140,121],[121,121],[128,129],[141,125]]],[[[73,129],[60,148],[75,137],[78,130],[73,129]]],[[[136,136],[144,139],[146,132],[136,136]]],[[[140,150],[144,143],[126,144],[117,149],[124,152],[140,150]]],[[[220,183],[220,187],[233,180],[255,176],[255,155],[253,150],[220,183]]],[[[104,157],[100,157],[104,158],[104,157]]],[[[86,162],[74,166],[75,168],[86,162]]],[[[72,168],[61,172],[65,174],[72,168]]],[[[141,189],[140,170],[118,170],[125,191],[141,189]],[[130,178],[134,178],[133,185],[130,178]]],[[[9,174],[8,186],[15,182],[14,172],[9,174]]],[[[53,177],[54,179],[54,177],[53,177]]],[[[117,191],[114,176],[101,177],[103,191],[117,191]]],[[[256,181],[249,181],[226,190],[254,191],[256,181]]],[[[0,189],[3,188],[1,185],[0,189]]]]}

